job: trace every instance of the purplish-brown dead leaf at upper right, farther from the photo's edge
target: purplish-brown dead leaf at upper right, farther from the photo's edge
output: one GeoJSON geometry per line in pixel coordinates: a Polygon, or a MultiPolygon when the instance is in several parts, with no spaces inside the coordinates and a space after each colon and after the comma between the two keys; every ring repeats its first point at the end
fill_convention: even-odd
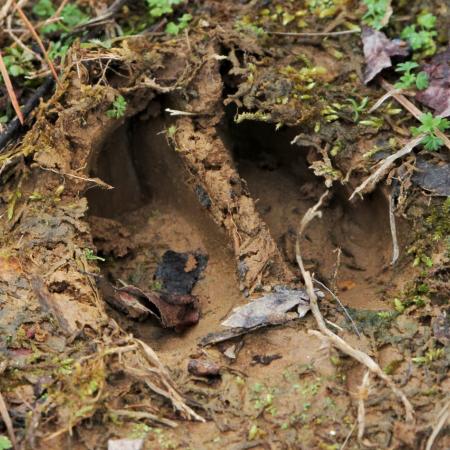
{"type": "Polygon", "coordinates": [[[363,51],[366,60],[364,83],[373,80],[383,69],[392,66],[391,56],[406,56],[408,44],[400,39],[390,40],[381,31],[364,27],[362,31],[363,51]]]}

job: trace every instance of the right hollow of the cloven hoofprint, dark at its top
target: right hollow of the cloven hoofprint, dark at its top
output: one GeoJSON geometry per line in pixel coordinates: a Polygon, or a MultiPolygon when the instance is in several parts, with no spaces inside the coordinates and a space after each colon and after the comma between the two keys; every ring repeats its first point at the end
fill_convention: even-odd
{"type": "MultiPolygon", "coordinates": [[[[223,134],[242,178],[257,200],[285,259],[297,270],[296,229],[304,213],[325,191],[307,161],[311,149],[292,145],[295,129],[275,131],[261,122],[236,125],[229,118],[223,134]]],[[[302,242],[306,268],[332,284],[341,249],[337,286],[345,304],[356,308],[386,307],[380,290],[391,258],[388,201],[381,190],[351,204],[349,192],[339,183],[322,208],[322,219],[307,228],[302,242]]]]}

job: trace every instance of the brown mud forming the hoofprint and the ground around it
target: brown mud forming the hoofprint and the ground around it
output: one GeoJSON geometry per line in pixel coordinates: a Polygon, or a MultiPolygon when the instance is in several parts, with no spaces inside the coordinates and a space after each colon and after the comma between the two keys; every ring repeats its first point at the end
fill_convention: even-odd
{"type": "MultiPolygon", "coordinates": [[[[348,438],[348,448],[359,449],[361,398],[374,448],[425,448],[446,401],[449,359],[438,344],[448,337],[441,308],[448,269],[442,249],[434,259],[425,253],[431,244],[423,244],[423,217],[436,221],[427,232],[434,238],[447,229],[445,208],[431,210],[416,191],[403,202],[401,258],[392,267],[389,185],[348,200],[366,176],[373,130],[364,134],[344,117],[323,121],[313,136],[314,121],[341,88],[333,86],[328,98],[325,83],[341,77],[354,85],[327,43],[277,40],[269,53],[220,27],[163,44],[152,39],[130,40],[110,54],[133,74],[129,80],[108,72],[111,85],[103,86],[87,67],[81,75],[72,67],[64,95],[50,112],[43,107],[22,146],[1,159],[1,214],[11,216],[1,224],[0,319],[8,337],[0,350],[9,357],[0,363],[1,388],[18,405],[12,415],[24,448],[105,448],[109,437],[139,436],[148,448],[335,450],[348,438]],[[327,69],[315,80],[317,102],[300,101],[305,80],[287,67],[300,70],[305,58],[327,69]],[[119,92],[127,112],[112,120],[106,111],[119,92]],[[168,107],[182,114],[170,117],[168,107]],[[257,109],[244,110],[256,120],[237,124],[245,107],[257,109]],[[343,150],[331,160],[337,140],[343,150]],[[360,391],[363,368],[309,333],[316,328],[310,316],[198,346],[236,306],[277,284],[301,284],[297,226],[326,188],[323,216],[307,229],[301,251],[347,306],[360,337],[329,296],[321,311],[405,390],[415,424],[404,422],[383,383],[371,379],[368,392],[360,391]],[[192,290],[201,308],[196,326],[163,329],[105,304],[98,272],[118,286],[158,291],[168,251],[208,258],[192,290]],[[436,268],[427,272],[430,260],[436,268]],[[191,360],[208,361],[219,376],[189,374],[191,360]]],[[[351,39],[339,45],[348,50],[351,39]]],[[[356,52],[355,73],[358,64],[356,52]]],[[[377,138],[387,135],[384,128],[377,138]]]]}

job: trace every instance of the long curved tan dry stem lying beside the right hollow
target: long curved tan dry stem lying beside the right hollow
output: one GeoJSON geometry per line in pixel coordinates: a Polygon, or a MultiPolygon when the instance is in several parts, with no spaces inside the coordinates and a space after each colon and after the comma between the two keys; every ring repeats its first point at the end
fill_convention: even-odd
{"type": "Polygon", "coordinates": [[[381,367],[366,353],[357,350],[353,348],[350,344],[348,344],[344,339],[339,337],[338,335],[334,334],[332,331],[330,331],[326,324],[325,320],[320,312],[319,304],[317,302],[317,296],[314,292],[313,287],[313,281],[311,278],[311,274],[309,271],[305,270],[305,267],[303,265],[302,256],[300,253],[300,238],[302,235],[302,232],[305,230],[306,226],[308,225],[311,220],[313,220],[315,217],[320,217],[320,211],[319,208],[322,205],[322,201],[325,197],[325,194],[320,197],[319,201],[308,211],[306,211],[305,216],[303,217],[302,221],[300,222],[300,226],[297,233],[297,242],[296,242],[296,259],[298,262],[298,265],[300,267],[300,271],[302,273],[303,279],[305,281],[306,291],[309,296],[309,301],[311,305],[311,311],[314,315],[314,318],[316,319],[317,326],[319,327],[320,332],[324,335],[324,338],[328,339],[330,343],[336,347],[341,352],[345,353],[348,356],[351,356],[352,358],[356,359],[359,363],[366,366],[370,372],[377,375],[379,378],[381,378],[387,386],[392,390],[392,392],[400,399],[400,401],[403,403],[403,406],[405,408],[405,418],[407,422],[413,422],[414,421],[414,409],[405,396],[405,394],[402,392],[401,389],[399,389],[395,383],[391,380],[391,378],[384,373],[381,370],[381,367]]]}

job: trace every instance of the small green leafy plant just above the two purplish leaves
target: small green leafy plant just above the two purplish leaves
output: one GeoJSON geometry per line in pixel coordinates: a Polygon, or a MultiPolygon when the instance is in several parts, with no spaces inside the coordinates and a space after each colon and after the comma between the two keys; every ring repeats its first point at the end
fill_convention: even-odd
{"type": "Polygon", "coordinates": [[[436,52],[435,25],[436,17],[433,14],[422,14],[418,17],[417,24],[405,27],[400,36],[406,39],[414,52],[418,52],[421,57],[431,56],[436,52]]]}

